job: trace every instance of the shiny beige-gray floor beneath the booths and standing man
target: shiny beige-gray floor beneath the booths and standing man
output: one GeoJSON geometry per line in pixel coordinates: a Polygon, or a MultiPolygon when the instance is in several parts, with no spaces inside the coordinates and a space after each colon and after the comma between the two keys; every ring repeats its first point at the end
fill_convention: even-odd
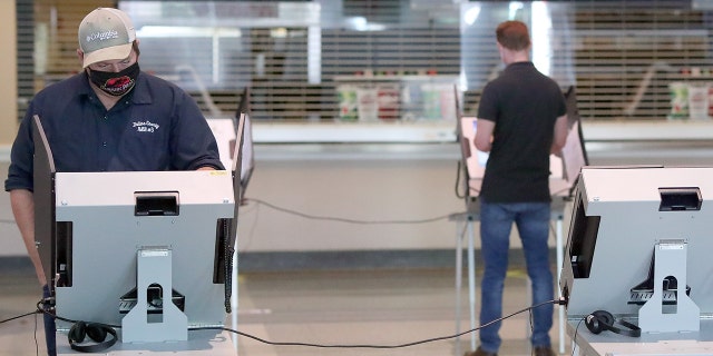
{"type": "MultiPolygon", "coordinates": [[[[29,270],[6,271],[0,281],[0,319],[33,310],[39,289],[29,270]]],[[[247,274],[240,276],[238,286],[237,329],[270,342],[394,346],[456,332],[455,276],[449,269],[247,274]]],[[[526,307],[526,286],[522,271],[511,270],[506,314],[526,307]]],[[[467,330],[466,290],[461,300],[461,330],[467,330]]],[[[527,325],[527,313],[504,323],[500,355],[529,355],[527,325]]],[[[555,349],[557,327],[551,332],[555,349]]],[[[457,348],[459,354],[469,348],[470,336],[389,349],[275,346],[245,336],[237,337],[237,344],[241,356],[456,355],[457,348]]],[[[43,355],[43,349],[41,318],[0,324],[0,355],[43,355]]]]}

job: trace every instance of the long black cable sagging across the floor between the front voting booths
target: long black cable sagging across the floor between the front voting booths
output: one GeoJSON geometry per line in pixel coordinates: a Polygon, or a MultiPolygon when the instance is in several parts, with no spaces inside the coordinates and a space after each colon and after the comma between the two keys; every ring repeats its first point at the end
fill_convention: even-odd
{"type": "MultiPolygon", "coordinates": [[[[45,309],[41,305],[45,303],[45,300],[40,300],[37,303],[37,310],[31,312],[31,313],[26,313],[22,314],[20,316],[16,316],[6,320],[0,320],[0,325],[3,323],[8,323],[10,320],[14,320],[18,318],[22,318],[22,317],[27,317],[29,315],[36,315],[36,314],[47,314],[49,316],[51,316],[52,318],[56,318],[58,320],[62,320],[62,322],[67,322],[70,324],[76,324],[79,323],[79,320],[72,320],[72,319],[68,319],[61,316],[58,316],[53,313],[51,313],[50,310],[45,309]]],[[[448,339],[453,339],[470,333],[475,333],[484,327],[490,326],[495,323],[499,323],[506,319],[509,319],[518,314],[525,313],[525,312],[531,312],[535,308],[538,308],[540,306],[544,305],[548,305],[548,304],[555,304],[555,305],[567,305],[567,300],[565,300],[564,298],[559,298],[559,299],[553,299],[553,300],[547,300],[547,301],[543,301],[540,304],[534,305],[534,306],[529,306],[527,308],[517,310],[515,313],[508,314],[504,317],[497,318],[492,322],[486,323],[484,325],[480,325],[476,328],[462,332],[462,333],[458,333],[455,335],[448,335],[448,336],[439,336],[439,337],[433,337],[433,338],[428,338],[428,339],[422,339],[422,340],[417,340],[417,342],[411,342],[411,343],[406,343],[406,344],[397,344],[397,345],[370,345],[370,344],[353,344],[353,345],[341,345],[341,344],[332,344],[332,345],[326,345],[326,344],[313,344],[313,343],[301,343],[301,342],[271,342],[247,333],[243,333],[236,329],[232,329],[232,328],[227,328],[227,327],[192,327],[188,328],[188,330],[223,330],[223,332],[228,332],[228,333],[233,333],[243,337],[247,337],[251,338],[253,340],[266,344],[266,345],[272,345],[272,346],[303,346],[303,347],[316,347],[316,348],[374,348],[374,349],[393,349],[393,348],[406,348],[406,347],[411,347],[411,346],[417,346],[417,345],[422,345],[422,344],[429,344],[429,343],[434,343],[434,342],[442,342],[442,340],[448,340],[448,339]]],[[[109,324],[104,324],[107,327],[113,327],[113,328],[118,328],[120,326],[117,325],[109,325],[109,324]]]]}

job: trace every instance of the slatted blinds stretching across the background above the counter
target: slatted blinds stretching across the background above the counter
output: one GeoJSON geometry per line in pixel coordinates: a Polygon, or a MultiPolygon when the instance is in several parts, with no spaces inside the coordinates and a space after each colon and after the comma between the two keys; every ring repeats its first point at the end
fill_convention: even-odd
{"type": "Polygon", "coordinates": [[[118,6],[137,24],[141,68],[208,115],[233,115],[245,87],[264,121],[447,120],[452,87],[475,115],[502,69],[495,27],[519,19],[536,66],[576,86],[585,120],[684,119],[680,88],[713,82],[711,9],[699,2],[17,0],[18,116],[80,69],[81,18],[118,6]]]}

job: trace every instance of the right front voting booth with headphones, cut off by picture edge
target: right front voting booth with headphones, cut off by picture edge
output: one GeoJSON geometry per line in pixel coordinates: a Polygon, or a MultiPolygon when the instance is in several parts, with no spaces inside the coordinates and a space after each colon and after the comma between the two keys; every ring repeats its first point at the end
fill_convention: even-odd
{"type": "Polygon", "coordinates": [[[574,355],[713,355],[713,167],[585,167],[559,281],[574,355]]]}

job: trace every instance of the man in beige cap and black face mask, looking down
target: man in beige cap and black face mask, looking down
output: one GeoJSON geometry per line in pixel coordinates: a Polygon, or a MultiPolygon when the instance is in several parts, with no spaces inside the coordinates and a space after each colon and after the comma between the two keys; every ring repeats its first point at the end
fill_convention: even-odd
{"type": "MultiPolygon", "coordinates": [[[[224,169],[195,100],[177,86],[140,71],[138,40],[121,10],[98,8],[78,30],[82,71],[39,91],[12,145],[4,189],[45,296],[35,247],[32,117],[39,116],[57,171],[224,169]]],[[[55,323],[45,318],[48,355],[55,323]]]]}

